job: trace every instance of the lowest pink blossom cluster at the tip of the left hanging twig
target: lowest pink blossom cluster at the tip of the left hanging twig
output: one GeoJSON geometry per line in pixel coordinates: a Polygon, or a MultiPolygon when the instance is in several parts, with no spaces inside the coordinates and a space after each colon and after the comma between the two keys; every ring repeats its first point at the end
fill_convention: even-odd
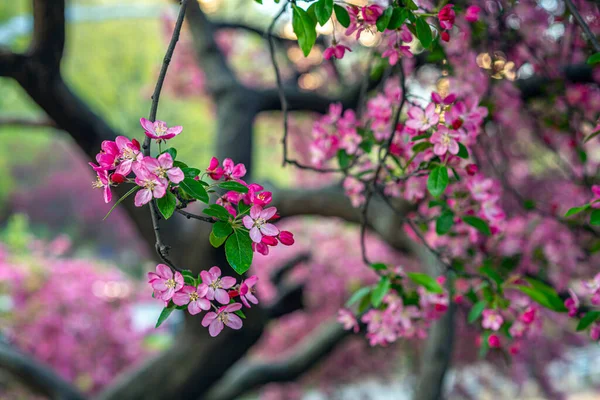
{"type": "MultiPolygon", "coordinates": [[[[202,319],[202,326],[208,327],[210,336],[217,336],[225,326],[241,329],[240,316],[245,317],[241,312],[242,304],[236,303],[235,298],[239,297],[248,308],[250,303],[258,304],[254,295],[254,285],[258,281],[255,275],[237,284],[235,278],[221,276],[221,269],[216,266],[200,272],[197,278],[190,271],[184,273],[173,272],[167,265],[158,264],[156,272],[148,273],[153,296],[164,302],[168,313],[173,309],[187,309],[191,315],[196,315],[212,308],[213,311],[206,313],[202,319]]],[[[159,319],[158,325],[161,323],[159,319]]]]}

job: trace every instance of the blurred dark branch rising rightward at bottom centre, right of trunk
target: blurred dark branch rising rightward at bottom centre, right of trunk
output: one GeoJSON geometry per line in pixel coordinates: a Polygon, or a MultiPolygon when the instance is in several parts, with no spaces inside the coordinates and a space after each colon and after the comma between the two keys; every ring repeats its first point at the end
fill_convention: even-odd
{"type": "Polygon", "coordinates": [[[338,322],[332,321],[307,336],[284,361],[242,361],[215,385],[205,399],[233,400],[266,383],[293,381],[328,356],[349,334],[338,322]]]}

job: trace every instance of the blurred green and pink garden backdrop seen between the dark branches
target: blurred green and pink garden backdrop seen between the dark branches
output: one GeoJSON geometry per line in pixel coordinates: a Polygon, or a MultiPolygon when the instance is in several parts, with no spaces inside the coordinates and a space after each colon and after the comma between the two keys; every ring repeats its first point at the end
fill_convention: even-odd
{"type": "MultiPolygon", "coordinates": [[[[278,10],[267,0],[263,6],[251,0],[199,3],[211,19],[262,30],[278,10]]],[[[109,125],[129,137],[142,137],[138,121],[147,116],[176,12],[177,7],[164,0],[67,4],[63,77],[109,125]]],[[[24,51],[32,29],[30,1],[0,3],[0,45],[24,51]]],[[[282,34],[290,29],[284,26],[282,34]]],[[[223,29],[216,39],[241,81],[272,86],[260,35],[223,29]]],[[[368,35],[363,44],[369,45],[368,35]]],[[[327,90],[323,86],[328,67],[313,68],[322,63],[318,50],[308,60],[297,48],[287,55],[306,71],[298,80],[301,88],[327,90]]],[[[360,53],[349,57],[361,64],[360,53]]],[[[284,66],[284,74],[290,73],[284,66]]],[[[350,82],[355,78],[348,76],[350,82]]],[[[199,168],[214,154],[217,134],[205,80],[184,30],[167,75],[159,118],[184,126],[174,147],[178,158],[199,168]]],[[[424,76],[413,85],[428,87],[431,82],[424,76]]],[[[308,115],[295,117],[292,130],[306,129],[302,126],[307,123],[310,130],[310,120],[308,115]]],[[[162,306],[150,297],[144,281],[146,271],[155,265],[154,255],[123,208],[102,221],[109,206],[91,187],[94,177],[88,158],[68,134],[47,121],[15,81],[0,78],[0,334],[4,342],[52,367],[82,392],[98,394],[126,371],[168,352],[185,321],[174,314],[164,327],[154,329],[162,306]]],[[[254,127],[254,181],[290,187],[333,179],[281,168],[280,132],[277,114],[259,116],[254,127]]],[[[301,138],[295,140],[302,146],[301,138]]],[[[285,224],[297,235],[297,245],[258,257],[253,271],[264,282],[259,287],[261,301],[268,301],[275,296],[270,272],[310,252],[310,260],[300,262],[290,277],[306,285],[305,308],[267,326],[251,349],[250,356],[259,360],[285,356],[294,344],[335,318],[361,283],[376,279],[362,268],[355,226],[316,218],[290,219],[285,224]]],[[[375,237],[369,238],[369,251],[381,260],[408,266],[413,262],[375,237]]],[[[600,385],[597,346],[581,347],[583,342],[573,341],[559,350],[532,340],[536,359],[482,361],[473,350],[476,334],[462,325],[457,328],[456,362],[446,381],[450,398],[559,398],[554,392],[560,389],[572,400],[600,399],[595,391],[600,385]],[[545,368],[544,374],[537,373],[545,368]]],[[[420,347],[401,341],[390,348],[371,348],[364,339],[353,337],[295,382],[269,384],[243,398],[408,399],[420,347]]],[[[44,396],[0,371],[0,398],[44,396]]],[[[189,397],[173,393],[172,398],[189,397]]]]}

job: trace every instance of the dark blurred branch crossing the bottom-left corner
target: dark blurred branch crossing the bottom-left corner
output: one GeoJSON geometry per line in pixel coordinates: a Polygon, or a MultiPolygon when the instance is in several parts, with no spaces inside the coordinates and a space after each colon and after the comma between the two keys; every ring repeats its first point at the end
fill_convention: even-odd
{"type": "Polygon", "coordinates": [[[50,368],[5,343],[0,344],[0,367],[10,372],[28,387],[51,399],[84,399],[77,389],[56,375],[50,368]]]}

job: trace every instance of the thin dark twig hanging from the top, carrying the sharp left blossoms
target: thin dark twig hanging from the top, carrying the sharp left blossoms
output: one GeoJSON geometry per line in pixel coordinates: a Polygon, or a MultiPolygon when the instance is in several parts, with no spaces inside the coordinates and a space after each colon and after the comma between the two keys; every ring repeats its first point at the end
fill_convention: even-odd
{"type": "MultiPolygon", "coordinates": [[[[152,122],[156,120],[156,113],[158,111],[158,101],[160,98],[160,92],[162,90],[163,83],[165,81],[165,77],[167,76],[167,69],[169,68],[169,63],[171,62],[171,57],[173,57],[173,52],[175,51],[175,46],[177,45],[177,41],[179,40],[179,33],[181,32],[181,27],[183,26],[183,19],[185,16],[185,8],[187,6],[187,0],[181,1],[181,7],[179,9],[179,15],[177,16],[177,22],[175,23],[175,28],[173,29],[173,35],[171,36],[171,41],[169,42],[169,47],[167,48],[167,52],[165,53],[165,57],[163,59],[162,67],[160,69],[160,73],[158,75],[158,80],[156,81],[156,87],[154,88],[154,93],[152,94],[152,104],[150,106],[150,115],[148,119],[152,122]]],[[[144,157],[150,156],[150,147],[151,147],[150,137],[146,136],[144,139],[143,145],[143,154],[144,157]]],[[[150,201],[150,216],[152,218],[152,226],[154,227],[154,236],[156,237],[156,244],[154,245],[156,249],[156,253],[160,257],[160,259],[170,266],[175,271],[181,271],[179,268],[175,266],[175,264],[169,259],[169,249],[170,247],[163,243],[162,238],[160,236],[160,215],[158,214],[158,208],[154,201],[150,201]]]]}

